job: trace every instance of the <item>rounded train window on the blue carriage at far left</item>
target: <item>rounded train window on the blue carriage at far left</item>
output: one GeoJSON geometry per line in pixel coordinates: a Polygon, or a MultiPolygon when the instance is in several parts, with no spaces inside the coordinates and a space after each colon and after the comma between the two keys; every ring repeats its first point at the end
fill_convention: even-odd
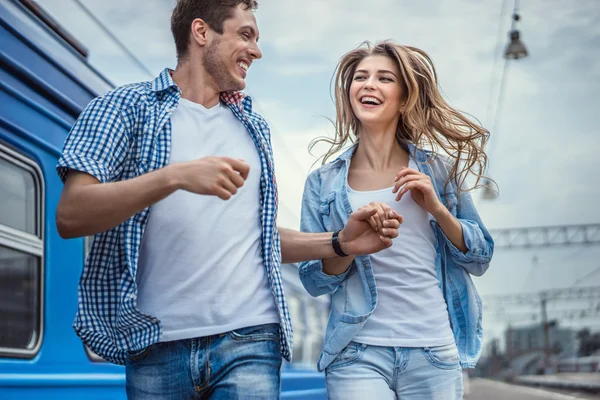
{"type": "Polygon", "coordinates": [[[42,338],[43,181],[0,145],[0,356],[30,357],[42,338]]]}

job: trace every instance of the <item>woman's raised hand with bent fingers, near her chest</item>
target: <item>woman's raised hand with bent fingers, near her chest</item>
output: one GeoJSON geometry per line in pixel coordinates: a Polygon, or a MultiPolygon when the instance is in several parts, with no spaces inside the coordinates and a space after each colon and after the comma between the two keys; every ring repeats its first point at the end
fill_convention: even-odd
{"type": "Polygon", "coordinates": [[[431,178],[428,175],[412,168],[403,167],[396,175],[395,181],[396,184],[392,193],[398,193],[396,201],[400,201],[402,196],[410,191],[415,203],[431,215],[436,215],[445,208],[437,197],[431,178]]]}

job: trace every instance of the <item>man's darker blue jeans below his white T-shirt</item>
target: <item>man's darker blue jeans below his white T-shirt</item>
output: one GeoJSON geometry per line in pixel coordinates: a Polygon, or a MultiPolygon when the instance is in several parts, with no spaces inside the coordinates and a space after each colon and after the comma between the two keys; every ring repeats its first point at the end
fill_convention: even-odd
{"type": "Polygon", "coordinates": [[[279,325],[153,344],[130,354],[133,400],[279,399],[279,325]]]}

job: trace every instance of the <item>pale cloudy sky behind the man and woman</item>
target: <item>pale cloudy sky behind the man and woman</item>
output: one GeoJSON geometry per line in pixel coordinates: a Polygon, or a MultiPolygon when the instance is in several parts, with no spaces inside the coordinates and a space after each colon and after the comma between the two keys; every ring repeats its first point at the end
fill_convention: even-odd
{"type": "MultiPolygon", "coordinates": [[[[78,1],[153,75],[175,67],[173,0],[78,1]]],[[[75,0],[38,3],[90,50],[90,63],[116,85],[152,78],[75,0]]],[[[361,42],[382,39],[428,52],[445,98],[491,131],[488,173],[499,196],[490,201],[473,193],[488,228],[600,223],[600,3],[520,1],[518,29],[529,56],[508,63],[504,101],[496,107],[513,6],[507,0],[259,1],[263,58],[249,70],[246,92],[271,125],[280,225],[299,227],[304,181],[325,151],[317,147],[310,155],[308,145],[332,133],[336,63],[361,42]]],[[[490,295],[600,286],[600,246],[498,249],[489,271],[474,280],[484,303],[490,295]]],[[[531,323],[538,312],[521,305],[499,316],[497,301],[485,304],[487,340],[502,335],[509,320],[531,323]]],[[[597,305],[550,302],[549,314],[597,305]]],[[[600,330],[600,317],[561,324],[600,330]]]]}

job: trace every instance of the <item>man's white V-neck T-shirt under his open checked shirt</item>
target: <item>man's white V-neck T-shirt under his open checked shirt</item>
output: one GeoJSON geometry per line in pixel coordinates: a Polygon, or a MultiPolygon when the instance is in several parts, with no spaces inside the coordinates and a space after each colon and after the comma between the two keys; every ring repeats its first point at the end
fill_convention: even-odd
{"type": "Polygon", "coordinates": [[[227,156],[243,159],[250,173],[229,200],[178,190],[151,207],[137,307],[160,320],[163,342],[279,323],[261,254],[261,164],[252,137],[221,103],[206,109],[181,98],[171,124],[169,164],[227,156]]]}

